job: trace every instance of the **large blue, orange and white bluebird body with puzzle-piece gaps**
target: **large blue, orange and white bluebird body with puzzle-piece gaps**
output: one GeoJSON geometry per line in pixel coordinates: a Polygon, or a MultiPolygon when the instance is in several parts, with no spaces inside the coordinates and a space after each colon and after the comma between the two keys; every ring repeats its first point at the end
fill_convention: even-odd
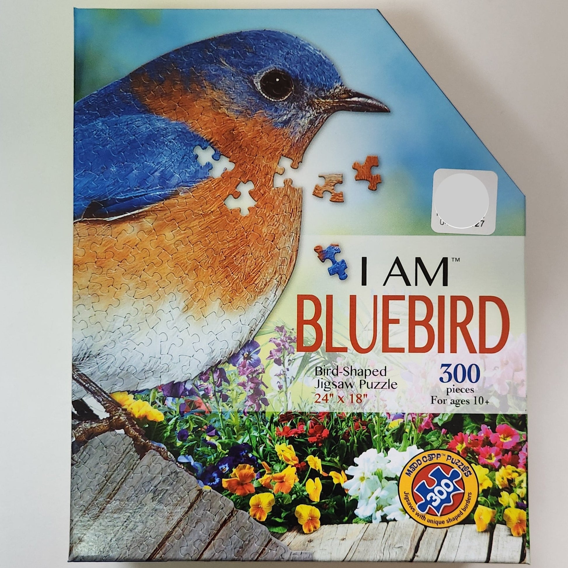
{"type": "Polygon", "coordinates": [[[297,167],[337,111],[389,109],[346,87],[306,41],[264,30],[185,45],[76,103],[73,366],[83,387],[187,381],[256,334],[298,253],[302,190],[273,187],[278,162],[297,167]],[[235,167],[211,176],[198,146],[235,167]],[[256,204],[241,215],[224,201],[248,182],[256,204]]]}

